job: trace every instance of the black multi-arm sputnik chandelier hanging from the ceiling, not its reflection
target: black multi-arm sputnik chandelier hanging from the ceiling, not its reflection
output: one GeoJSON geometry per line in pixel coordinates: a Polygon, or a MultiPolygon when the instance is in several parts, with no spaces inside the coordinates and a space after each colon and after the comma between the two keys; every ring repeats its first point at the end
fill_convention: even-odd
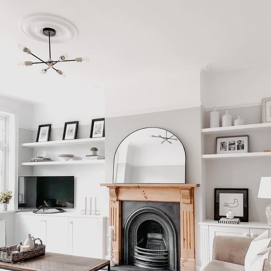
{"type": "Polygon", "coordinates": [[[27,53],[27,54],[31,54],[33,57],[36,57],[38,60],[40,60],[40,62],[32,62],[32,61],[24,61],[22,63],[18,63],[19,66],[32,66],[33,64],[46,64],[47,68],[46,69],[42,69],[41,70],[41,74],[45,74],[47,73],[47,70],[49,68],[52,68],[53,70],[55,70],[57,72],[57,74],[62,75],[63,77],[66,76],[66,74],[64,72],[62,72],[61,70],[58,70],[56,68],[54,68],[54,65],[57,64],[57,62],[67,62],[67,61],[75,61],[75,62],[89,62],[89,58],[88,57],[77,57],[75,59],[68,59],[68,54],[62,54],[58,60],[52,60],[51,59],[51,43],[50,43],[50,37],[55,36],[56,31],[53,28],[43,28],[42,32],[45,36],[49,37],[49,59],[48,61],[43,61],[42,59],[40,59],[39,57],[35,56],[34,54],[32,54],[32,52],[25,47],[22,44],[19,44],[19,48],[20,50],[22,50],[23,52],[27,53]]]}

